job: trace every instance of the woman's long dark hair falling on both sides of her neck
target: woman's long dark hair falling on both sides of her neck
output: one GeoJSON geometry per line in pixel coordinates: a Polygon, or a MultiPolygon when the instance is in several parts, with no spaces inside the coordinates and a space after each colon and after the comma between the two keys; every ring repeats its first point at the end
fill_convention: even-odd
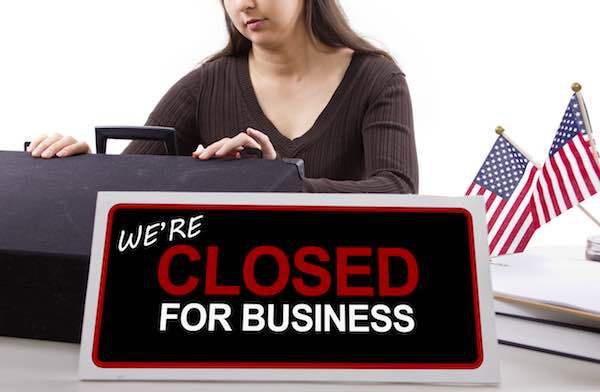
{"type": "MultiPolygon", "coordinates": [[[[225,11],[223,0],[221,5],[225,11]]],[[[229,42],[221,51],[206,59],[206,62],[225,56],[247,54],[252,47],[252,42],[235,28],[227,12],[224,13],[229,42]]],[[[312,39],[326,46],[350,48],[358,53],[372,53],[394,61],[388,52],[371,45],[352,30],[337,0],[304,0],[304,25],[312,39]]]]}

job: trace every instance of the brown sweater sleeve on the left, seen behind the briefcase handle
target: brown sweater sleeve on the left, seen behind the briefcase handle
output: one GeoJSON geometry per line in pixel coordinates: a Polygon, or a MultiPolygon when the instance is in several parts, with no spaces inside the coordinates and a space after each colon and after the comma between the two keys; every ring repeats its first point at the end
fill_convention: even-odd
{"type": "MultiPolygon", "coordinates": [[[[193,93],[193,73],[184,76],[158,102],[148,120],[147,126],[173,127],[177,132],[178,155],[191,155],[200,144],[196,132],[197,99],[193,93]]],[[[166,146],[154,140],[134,140],[122,154],[165,155],[166,146]]]]}

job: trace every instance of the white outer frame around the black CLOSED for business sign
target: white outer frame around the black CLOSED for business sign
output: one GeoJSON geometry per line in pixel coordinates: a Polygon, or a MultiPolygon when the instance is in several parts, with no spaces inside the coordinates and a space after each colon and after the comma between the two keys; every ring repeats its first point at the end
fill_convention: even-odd
{"type": "Polygon", "coordinates": [[[390,194],[98,192],[79,356],[82,380],[500,382],[485,212],[480,197],[390,194]],[[218,204],[459,208],[472,217],[483,362],[476,369],[101,368],[92,360],[107,218],[117,204],[218,204]]]}

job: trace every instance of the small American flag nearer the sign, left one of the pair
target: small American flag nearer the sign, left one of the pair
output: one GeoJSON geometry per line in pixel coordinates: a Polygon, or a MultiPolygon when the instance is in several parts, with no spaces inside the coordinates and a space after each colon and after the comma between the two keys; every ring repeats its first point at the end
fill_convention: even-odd
{"type": "Polygon", "coordinates": [[[532,192],[539,170],[499,136],[467,190],[485,199],[490,256],[522,252],[539,227],[532,192]]]}

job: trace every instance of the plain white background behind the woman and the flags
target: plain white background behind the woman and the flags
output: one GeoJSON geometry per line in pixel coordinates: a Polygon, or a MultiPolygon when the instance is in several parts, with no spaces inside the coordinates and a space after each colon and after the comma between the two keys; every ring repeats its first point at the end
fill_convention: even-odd
{"type": "MultiPolygon", "coordinates": [[[[592,126],[600,119],[597,2],[341,4],[351,25],[407,75],[422,194],[464,194],[498,124],[543,161],[574,81],[583,85],[592,126]]],[[[0,150],[21,150],[41,132],[94,146],[96,125],[142,125],[166,90],[225,40],[218,0],[3,1],[0,150]]],[[[599,196],[584,206],[600,217],[599,196]]],[[[574,208],[538,230],[531,245],[583,245],[596,233],[574,208]]]]}

